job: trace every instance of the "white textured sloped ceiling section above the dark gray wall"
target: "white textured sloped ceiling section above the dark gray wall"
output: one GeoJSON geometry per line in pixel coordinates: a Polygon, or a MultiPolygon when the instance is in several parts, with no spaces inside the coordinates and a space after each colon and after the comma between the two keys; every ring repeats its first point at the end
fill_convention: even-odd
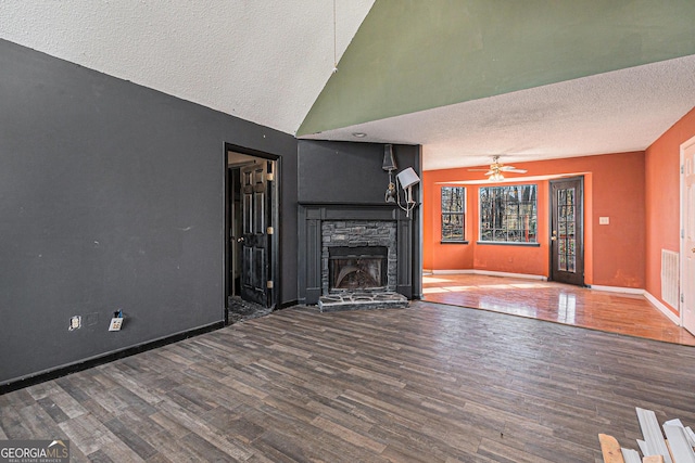
{"type": "MultiPolygon", "coordinates": [[[[294,133],[333,68],[330,0],[2,0],[0,38],[294,133]]],[[[374,0],[337,0],[338,57],[374,0]]]]}

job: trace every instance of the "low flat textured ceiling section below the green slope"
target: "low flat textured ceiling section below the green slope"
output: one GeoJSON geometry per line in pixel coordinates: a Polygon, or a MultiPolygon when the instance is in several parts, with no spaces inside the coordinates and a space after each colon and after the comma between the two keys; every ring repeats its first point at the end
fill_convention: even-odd
{"type": "Polygon", "coordinates": [[[433,170],[642,151],[694,106],[691,55],[305,138],[420,143],[433,170]]]}

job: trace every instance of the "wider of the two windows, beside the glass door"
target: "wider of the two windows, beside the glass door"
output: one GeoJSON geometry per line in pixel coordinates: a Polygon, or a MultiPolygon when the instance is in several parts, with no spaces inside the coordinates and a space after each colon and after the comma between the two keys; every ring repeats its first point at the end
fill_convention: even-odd
{"type": "Polygon", "coordinates": [[[480,241],[536,243],[536,185],[482,187],[480,241]]]}

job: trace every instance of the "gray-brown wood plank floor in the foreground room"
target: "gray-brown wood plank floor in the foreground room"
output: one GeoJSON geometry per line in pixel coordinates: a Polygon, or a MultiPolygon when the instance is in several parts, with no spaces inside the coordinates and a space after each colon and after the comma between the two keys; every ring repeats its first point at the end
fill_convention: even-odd
{"type": "Polygon", "coordinates": [[[295,307],[0,396],[75,462],[601,462],[695,425],[695,349],[426,301],[295,307]]]}

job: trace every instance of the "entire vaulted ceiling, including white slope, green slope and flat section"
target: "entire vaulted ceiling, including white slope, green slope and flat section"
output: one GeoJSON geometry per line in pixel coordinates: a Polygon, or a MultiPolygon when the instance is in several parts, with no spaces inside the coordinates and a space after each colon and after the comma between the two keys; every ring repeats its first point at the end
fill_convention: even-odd
{"type": "Polygon", "coordinates": [[[644,150],[695,106],[694,20],[690,0],[4,0],[0,38],[300,138],[422,144],[438,169],[644,150]]]}

